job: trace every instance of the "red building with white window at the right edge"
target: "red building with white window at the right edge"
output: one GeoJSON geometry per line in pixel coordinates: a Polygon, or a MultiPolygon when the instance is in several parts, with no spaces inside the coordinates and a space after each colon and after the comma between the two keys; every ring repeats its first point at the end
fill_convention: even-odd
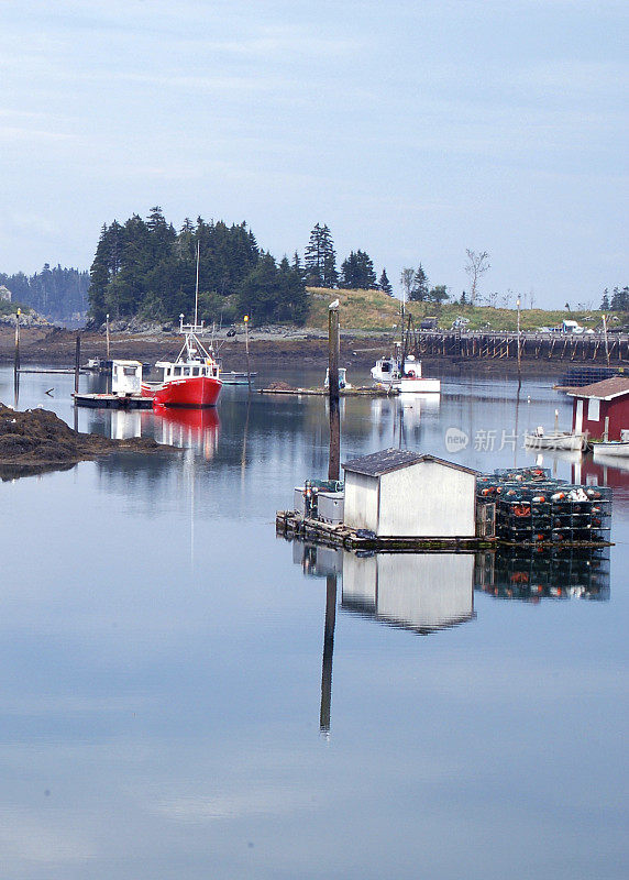
{"type": "Polygon", "coordinates": [[[629,431],[629,378],[613,376],[583,388],[569,388],[573,397],[572,430],[595,440],[607,435],[620,440],[620,431],[629,431]]]}

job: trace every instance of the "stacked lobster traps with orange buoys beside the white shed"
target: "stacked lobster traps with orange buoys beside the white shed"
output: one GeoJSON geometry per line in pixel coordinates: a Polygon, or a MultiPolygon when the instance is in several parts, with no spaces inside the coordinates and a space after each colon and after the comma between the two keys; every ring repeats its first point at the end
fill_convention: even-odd
{"type": "Polygon", "coordinates": [[[479,505],[495,504],[495,534],[515,547],[609,543],[611,490],[553,480],[542,468],[496,470],[477,479],[479,505]]]}

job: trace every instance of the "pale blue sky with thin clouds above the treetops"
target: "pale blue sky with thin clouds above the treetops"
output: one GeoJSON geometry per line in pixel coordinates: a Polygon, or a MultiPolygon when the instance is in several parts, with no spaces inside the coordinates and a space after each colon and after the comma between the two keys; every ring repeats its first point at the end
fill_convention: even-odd
{"type": "Polygon", "coordinates": [[[629,284],[626,0],[0,0],[0,272],[158,205],[280,258],[327,223],[399,289],[629,284]]]}

